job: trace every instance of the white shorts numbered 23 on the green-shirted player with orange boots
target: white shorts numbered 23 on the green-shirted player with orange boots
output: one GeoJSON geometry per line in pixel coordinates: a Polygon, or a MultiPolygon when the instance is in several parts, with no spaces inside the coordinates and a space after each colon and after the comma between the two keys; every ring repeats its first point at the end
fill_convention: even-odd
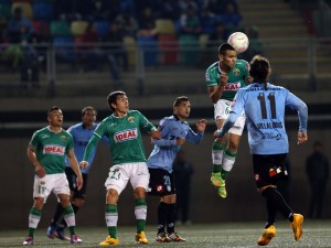
{"type": "Polygon", "coordinates": [[[127,186],[129,180],[134,190],[136,187],[143,187],[147,190],[149,184],[147,163],[122,163],[111,166],[105,186],[107,191],[109,188],[116,190],[119,195],[127,186]]]}

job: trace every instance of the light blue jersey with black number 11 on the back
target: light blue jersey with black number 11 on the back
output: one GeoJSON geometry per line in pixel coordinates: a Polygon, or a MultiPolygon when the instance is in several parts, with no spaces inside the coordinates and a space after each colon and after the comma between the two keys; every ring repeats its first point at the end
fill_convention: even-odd
{"type": "Polygon", "coordinates": [[[289,144],[285,129],[285,109],[298,111],[299,131],[307,131],[307,105],[288,89],[267,84],[250,84],[238,89],[228,118],[221,129],[223,136],[245,110],[248,143],[252,154],[288,153],[289,144]]]}

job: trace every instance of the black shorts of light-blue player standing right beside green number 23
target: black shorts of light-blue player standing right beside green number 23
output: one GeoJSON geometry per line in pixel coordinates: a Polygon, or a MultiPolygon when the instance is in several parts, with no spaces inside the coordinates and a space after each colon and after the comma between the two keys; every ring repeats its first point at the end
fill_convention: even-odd
{"type": "Polygon", "coordinates": [[[150,195],[172,195],[175,194],[173,174],[163,169],[148,169],[150,173],[148,193],[150,195]]]}

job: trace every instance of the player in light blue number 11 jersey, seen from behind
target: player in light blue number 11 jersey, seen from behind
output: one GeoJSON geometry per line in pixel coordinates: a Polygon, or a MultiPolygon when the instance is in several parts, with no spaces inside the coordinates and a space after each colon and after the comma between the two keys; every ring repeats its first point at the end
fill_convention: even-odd
{"type": "Polygon", "coordinates": [[[249,74],[253,84],[241,88],[233,101],[229,116],[214,137],[224,137],[243,110],[246,115],[248,143],[253,155],[253,170],[257,191],[266,198],[267,224],[257,244],[266,246],[276,236],[276,214],[279,212],[291,223],[295,239],[302,235],[303,216],[295,214],[277,190],[277,182],[287,175],[285,163],[289,150],[285,129],[285,109],[298,112],[298,144],[308,140],[307,105],[288,89],[268,83],[271,68],[269,61],[255,56],[249,74]]]}

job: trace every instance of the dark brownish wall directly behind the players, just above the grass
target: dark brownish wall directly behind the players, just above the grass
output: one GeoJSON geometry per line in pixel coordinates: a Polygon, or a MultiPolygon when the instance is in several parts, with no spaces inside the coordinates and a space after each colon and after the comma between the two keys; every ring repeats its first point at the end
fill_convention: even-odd
{"type": "MultiPolygon", "coordinates": [[[[328,130],[313,130],[309,132],[309,142],[302,147],[296,144],[297,132],[290,131],[290,162],[292,176],[290,180],[290,205],[302,214],[308,212],[309,185],[305,173],[305,159],[311,152],[312,143],[320,140],[324,151],[330,150],[331,133],[328,130]]],[[[151,145],[149,138],[143,137],[146,153],[149,154],[151,145]]],[[[0,229],[28,228],[28,215],[32,205],[33,168],[26,158],[26,145],[30,138],[1,139],[0,150],[2,170],[0,185],[2,188],[0,204],[0,229]]],[[[235,220],[265,222],[264,198],[256,192],[252,175],[252,160],[248,154],[247,136],[243,136],[237,162],[227,180],[228,197],[222,200],[210,183],[211,175],[211,145],[212,133],[205,134],[200,145],[185,143],[186,158],[194,164],[195,173],[191,193],[192,223],[217,223],[235,220]]],[[[105,187],[104,182],[108,174],[110,155],[106,145],[100,144],[97,150],[94,168],[89,174],[87,198],[85,206],[77,214],[77,226],[106,226],[105,225],[105,187]]],[[[325,195],[325,217],[331,217],[331,184],[325,195]]],[[[42,212],[39,228],[45,228],[55,208],[56,200],[51,195],[42,212]]],[[[156,225],[158,197],[148,197],[148,224],[156,225]]],[[[135,224],[134,196],[128,185],[119,200],[118,225],[135,224]]]]}

